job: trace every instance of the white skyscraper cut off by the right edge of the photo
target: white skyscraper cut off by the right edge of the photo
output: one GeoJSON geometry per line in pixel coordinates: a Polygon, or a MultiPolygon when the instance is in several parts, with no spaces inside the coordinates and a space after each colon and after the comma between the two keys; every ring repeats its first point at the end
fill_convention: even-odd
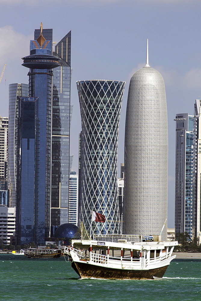
{"type": "Polygon", "coordinates": [[[193,124],[193,225],[192,236],[201,243],[201,100],[196,99],[194,104],[193,124]]]}

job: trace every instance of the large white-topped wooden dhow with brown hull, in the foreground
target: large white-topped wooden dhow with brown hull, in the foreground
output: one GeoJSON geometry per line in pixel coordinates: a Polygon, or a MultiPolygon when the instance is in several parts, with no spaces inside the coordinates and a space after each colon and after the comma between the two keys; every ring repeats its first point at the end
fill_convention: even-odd
{"type": "MultiPolygon", "coordinates": [[[[140,235],[97,235],[73,239],[64,254],[80,278],[160,279],[171,260],[177,241],[143,241],[140,235]]],[[[146,239],[145,239],[146,240],[146,239]]],[[[150,239],[149,239],[150,240],[150,239]]]]}

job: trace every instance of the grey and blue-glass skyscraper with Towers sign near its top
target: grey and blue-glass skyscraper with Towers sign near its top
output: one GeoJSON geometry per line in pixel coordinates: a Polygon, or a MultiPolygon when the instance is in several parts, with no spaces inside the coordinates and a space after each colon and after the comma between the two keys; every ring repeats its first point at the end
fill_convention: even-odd
{"type": "Polygon", "coordinates": [[[193,116],[177,114],[175,157],[175,233],[192,238],[193,213],[193,116]]]}

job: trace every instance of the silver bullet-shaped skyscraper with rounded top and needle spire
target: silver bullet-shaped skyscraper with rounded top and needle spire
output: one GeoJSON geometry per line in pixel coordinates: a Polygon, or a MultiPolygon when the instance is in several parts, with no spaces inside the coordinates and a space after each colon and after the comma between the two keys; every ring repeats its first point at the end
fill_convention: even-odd
{"type": "Polygon", "coordinates": [[[124,233],[160,235],[167,219],[167,107],[163,78],[148,63],[148,41],[146,65],[129,85],[124,163],[124,233]]]}

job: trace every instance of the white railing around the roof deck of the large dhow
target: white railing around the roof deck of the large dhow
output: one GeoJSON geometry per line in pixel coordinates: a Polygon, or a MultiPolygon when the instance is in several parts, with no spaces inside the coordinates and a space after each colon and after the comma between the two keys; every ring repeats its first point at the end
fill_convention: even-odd
{"type": "Polygon", "coordinates": [[[111,243],[121,243],[121,244],[141,244],[141,235],[94,235],[94,240],[99,242],[111,242],[111,243]]]}

